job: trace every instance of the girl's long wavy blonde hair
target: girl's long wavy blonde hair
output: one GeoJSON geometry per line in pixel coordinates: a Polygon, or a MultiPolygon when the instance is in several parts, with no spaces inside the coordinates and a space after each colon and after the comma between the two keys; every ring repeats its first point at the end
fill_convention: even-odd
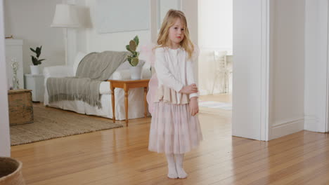
{"type": "Polygon", "coordinates": [[[186,17],[182,11],[170,9],[167,12],[166,16],[163,19],[159,36],[157,37],[157,47],[155,48],[169,46],[169,28],[175,24],[177,18],[181,19],[181,22],[184,25],[184,39],[183,41],[181,41],[180,45],[184,50],[186,50],[186,52],[188,53],[188,57],[191,58],[193,55],[194,46],[190,39],[190,32],[188,32],[186,17]]]}

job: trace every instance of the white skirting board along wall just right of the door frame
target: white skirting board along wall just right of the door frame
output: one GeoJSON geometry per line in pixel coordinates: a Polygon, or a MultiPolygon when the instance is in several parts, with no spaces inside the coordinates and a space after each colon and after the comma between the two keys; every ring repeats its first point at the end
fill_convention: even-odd
{"type": "Polygon", "coordinates": [[[285,135],[291,135],[301,130],[304,130],[304,118],[276,124],[272,126],[271,139],[276,139],[285,135]]]}

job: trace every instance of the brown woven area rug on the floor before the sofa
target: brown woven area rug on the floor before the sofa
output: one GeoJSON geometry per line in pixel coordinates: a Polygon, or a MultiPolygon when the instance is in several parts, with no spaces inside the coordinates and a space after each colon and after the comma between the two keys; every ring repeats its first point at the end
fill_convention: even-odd
{"type": "Polygon", "coordinates": [[[111,119],[86,116],[51,107],[33,106],[34,123],[11,126],[11,146],[56,137],[120,128],[111,119]]]}

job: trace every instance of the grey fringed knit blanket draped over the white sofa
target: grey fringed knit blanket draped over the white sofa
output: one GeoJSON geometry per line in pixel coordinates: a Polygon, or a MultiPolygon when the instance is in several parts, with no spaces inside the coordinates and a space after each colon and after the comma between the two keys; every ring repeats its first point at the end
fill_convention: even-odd
{"type": "Polygon", "coordinates": [[[77,68],[74,77],[48,78],[49,103],[61,100],[82,100],[101,109],[99,87],[126,60],[127,52],[89,53],[77,68]]]}

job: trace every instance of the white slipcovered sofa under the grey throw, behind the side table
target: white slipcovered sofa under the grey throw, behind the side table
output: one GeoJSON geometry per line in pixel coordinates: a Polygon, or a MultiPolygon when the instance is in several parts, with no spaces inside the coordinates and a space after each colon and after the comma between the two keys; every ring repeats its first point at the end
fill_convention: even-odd
{"type": "MultiPolygon", "coordinates": [[[[101,93],[101,104],[102,108],[91,107],[91,105],[82,101],[59,101],[52,102],[49,104],[48,90],[46,88],[46,81],[49,77],[65,77],[65,76],[75,76],[77,71],[77,66],[82,58],[86,54],[78,53],[75,57],[75,62],[73,66],[54,66],[44,68],[44,105],[49,107],[56,107],[59,109],[65,109],[70,111],[75,111],[79,114],[88,114],[95,116],[102,116],[105,118],[113,118],[112,115],[112,100],[110,93],[110,82],[103,81],[100,86],[101,93]]],[[[115,72],[110,76],[110,79],[124,79],[130,78],[129,62],[124,62],[118,67],[115,72]]],[[[150,65],[143,65],[143,78],[150,78],[150,65]]],[[[142,118],[144,116],[144,90],[143,88],[134,88],[129,90],[128,95],[129,102],[129,119],[131,118],[142,118]]],[[[115,118],[116,120],[124,120],[125,109],[124,109],[124,90],[122,88],[115,88],[115,118]]]]}

